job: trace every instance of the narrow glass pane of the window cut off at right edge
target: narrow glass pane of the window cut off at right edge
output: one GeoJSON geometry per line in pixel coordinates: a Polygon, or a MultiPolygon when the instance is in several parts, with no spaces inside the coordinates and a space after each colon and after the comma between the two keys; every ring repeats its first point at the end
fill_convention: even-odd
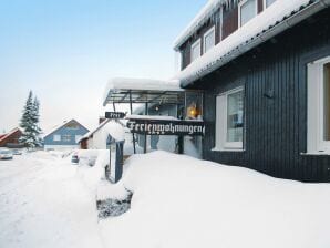
{"type": "Polygon", "coordinates": [[[330,63],[324,64],[324,141],[330,141],[330,63]]]}

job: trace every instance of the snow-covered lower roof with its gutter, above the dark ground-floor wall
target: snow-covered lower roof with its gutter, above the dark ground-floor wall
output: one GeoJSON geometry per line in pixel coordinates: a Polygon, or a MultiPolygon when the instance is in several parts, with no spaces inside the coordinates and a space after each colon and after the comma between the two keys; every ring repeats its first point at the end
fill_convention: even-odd
{"type": "MultiPolygon", "coordinates": [[[[217,1],[210,2],[215,3],[217,1]]],[[[330,4],[330,0],[277,0],[260,14],[181,71],[174,79],[181,81],[182,86],[186,86],[320,11],[327,4],[330,4]]]]}

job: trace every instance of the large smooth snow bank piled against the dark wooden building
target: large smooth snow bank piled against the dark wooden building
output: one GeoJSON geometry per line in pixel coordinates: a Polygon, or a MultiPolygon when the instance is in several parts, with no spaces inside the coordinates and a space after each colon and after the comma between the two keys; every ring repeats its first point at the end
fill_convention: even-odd
{"type": "Polygon", "coordinates": [[[132,208],[100,223],[111,247],[330,247],[330,185],[165,152],[135,155],[126,166],[115,192],[131,189],[132,208]]]}

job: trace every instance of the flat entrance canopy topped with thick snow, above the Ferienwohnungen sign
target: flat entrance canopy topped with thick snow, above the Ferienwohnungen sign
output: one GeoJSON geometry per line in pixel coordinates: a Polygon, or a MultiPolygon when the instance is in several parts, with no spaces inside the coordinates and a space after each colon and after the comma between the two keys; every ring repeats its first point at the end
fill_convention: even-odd
{"type": "Polygon", "coordinates": [[[112,79],[106,85],[103,105],[114,103],[183,104],[185,91],[176,81],[112,79]]]}

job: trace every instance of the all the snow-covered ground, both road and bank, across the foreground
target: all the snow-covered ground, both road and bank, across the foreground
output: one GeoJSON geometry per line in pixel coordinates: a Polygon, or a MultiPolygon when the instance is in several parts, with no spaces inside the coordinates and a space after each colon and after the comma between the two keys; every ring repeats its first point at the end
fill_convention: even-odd
{"type": "Polygon", "coordinates": [[[330,185],[155,152],[125,164],[121,183],[103,177],[105,152],[70,158],[33,153],[0,161],[0,247],[329,248],[330,185]],[[131,209],[97,220],[96,198],[131,209]]]}

